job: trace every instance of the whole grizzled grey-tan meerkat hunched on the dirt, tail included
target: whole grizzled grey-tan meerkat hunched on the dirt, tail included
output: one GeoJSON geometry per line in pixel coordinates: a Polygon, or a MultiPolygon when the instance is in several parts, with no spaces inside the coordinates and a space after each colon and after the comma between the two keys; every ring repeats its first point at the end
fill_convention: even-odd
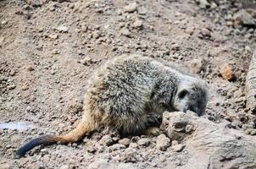
{"type": "Polygon", "coordinates": [[[84,113],[75,129],[65,135],[43,135],[17,150],[17,155],[40,144],[79,141],[100,125],[120,134],[147,134],[160,125],[164,111],[201,116],[208,100],[208,85],[150,57],[115,57],[89,79],[84,113]]]}

